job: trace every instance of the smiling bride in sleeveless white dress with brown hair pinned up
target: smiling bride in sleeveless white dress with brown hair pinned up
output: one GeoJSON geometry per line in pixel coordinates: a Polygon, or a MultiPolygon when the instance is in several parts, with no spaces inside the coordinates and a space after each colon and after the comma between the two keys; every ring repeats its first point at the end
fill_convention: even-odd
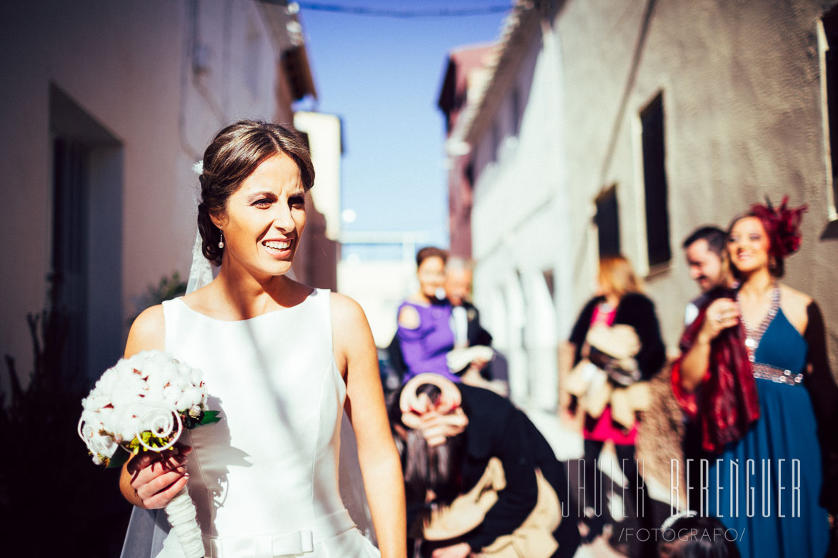
{"type": "MultiPolygon", "coordinates": [[[[287,276],[314,182],[308,148],[281,125],[241,120],[215,136],[199,180],[202,251],[219,274],[144,311],[125,355],[158,349],[199,367],[223,420],[163,460],[127,463],[122,494],[159,509],[187,486],[208,556],[377,556],[339,493],[345,410],[380,555],[404,557],[404,484],[370,327],[354,300],[287,276]]],[[[184,552],[171,535],[156,555],[184,552]]]]}

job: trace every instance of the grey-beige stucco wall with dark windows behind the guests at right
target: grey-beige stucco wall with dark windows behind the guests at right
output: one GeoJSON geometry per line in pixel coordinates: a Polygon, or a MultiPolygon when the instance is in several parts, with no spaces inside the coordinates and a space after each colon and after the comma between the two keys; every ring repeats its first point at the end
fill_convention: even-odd
{"type": "MultiPolygon", "coordinates": [[[[572,205],[616,183],[624,251],[645,267],[639,112],[659,91],[665,110],[671,269],[649,277],[665,340],[696,294],[680,243],[765,196],[808,203],[804,244],[786,282],[820,301],[838,351],[830,283],[838,242],[828,227],[816,28],[820,2],[570,2],[556,20],[566,73],[572,205]],[[636,71],[632,71],[636,68],[636,71]],[[624,103],[624,105],[621,105],[624,103]],[[613,143],[613,155],[608,148],[613,143]]],[[[576,214],[573,228],[586,223],[576,214]]],[[[590,264],[575,258],[574,269],[590,264]]]]}

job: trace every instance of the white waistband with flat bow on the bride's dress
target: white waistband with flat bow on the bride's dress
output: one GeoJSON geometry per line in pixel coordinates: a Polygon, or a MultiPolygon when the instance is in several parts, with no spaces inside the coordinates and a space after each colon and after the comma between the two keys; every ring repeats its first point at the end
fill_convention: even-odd
{"type": "Polygon", "coordinates": [[[209,558],[277,558],[313,552],[314,543],[340,535],[355,526],[346,509],[324,515],[300,530],[277,535],[214,537],[203,535],[209,558]]]}

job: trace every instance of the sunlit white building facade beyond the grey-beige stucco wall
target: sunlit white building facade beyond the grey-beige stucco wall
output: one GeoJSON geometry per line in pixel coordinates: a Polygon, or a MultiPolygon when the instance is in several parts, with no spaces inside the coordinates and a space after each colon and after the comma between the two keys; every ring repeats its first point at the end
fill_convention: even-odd
{"type": "Polygon", "coordinates": [[[472,234],[474,298],[494,345],[509,360],[512,398],[549,409],[556,406],[556,339],[564,320],[545,272],[554,282],[564,280],[563,270],[556,272],[556,248],[566,231],[557,218],[561,144],[557,136],[545,134],[546,123],[558,118],[558,74],[551,65],[556,57],[545,54],[545,48],[551,48],[550,38],[545,47],[535,35],[512,83],[505,84],[506,95],[492,120],[500,138],[497,161],[489,161],[492,125],[476,146],[472,234]],[[517,136],[511,121],[515,96],[522,104],[517,136]]]}

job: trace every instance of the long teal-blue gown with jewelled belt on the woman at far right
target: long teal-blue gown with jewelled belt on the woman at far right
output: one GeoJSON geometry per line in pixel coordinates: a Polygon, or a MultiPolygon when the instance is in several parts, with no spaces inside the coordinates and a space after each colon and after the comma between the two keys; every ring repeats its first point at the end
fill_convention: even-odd
{"type": "Polygon", "coordinates": [[[815,413],[800,382],[808,349],[778,310],[754,352],[760,417],[741,440],[709,458],[706,513],[722,521],[729,539],[737,538],[742,558],[816,558],[829,545],[827,513],[818,503],[815,413]],[[772,373],[789,383],[767,379],[772,373]]]}

